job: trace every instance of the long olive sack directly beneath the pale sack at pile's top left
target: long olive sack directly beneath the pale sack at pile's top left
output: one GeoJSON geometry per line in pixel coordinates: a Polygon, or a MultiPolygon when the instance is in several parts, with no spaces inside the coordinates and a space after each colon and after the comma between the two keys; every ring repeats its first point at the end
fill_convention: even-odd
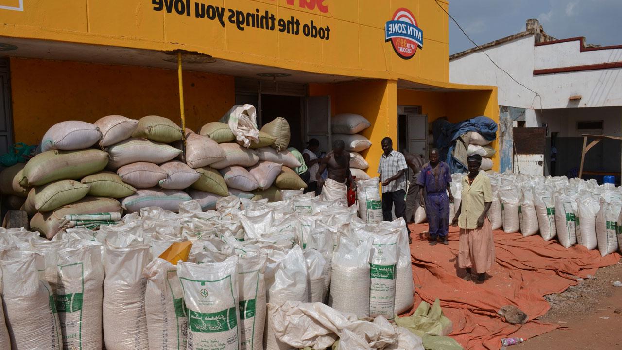
{"type": "Polygon", "coordinates": [[[40,186],[57,180],[79,180],[106,168],[108,153],[99,149],[47,151],[32,157],[24,167],[22,186],[40,186]]]}

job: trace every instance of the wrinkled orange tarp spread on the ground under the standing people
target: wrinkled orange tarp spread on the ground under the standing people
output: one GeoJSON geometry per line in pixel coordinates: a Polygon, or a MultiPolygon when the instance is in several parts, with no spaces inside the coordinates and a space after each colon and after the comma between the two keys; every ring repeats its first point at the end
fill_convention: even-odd
{"type": "MultiPolygon", "coordinates": [[[[496,261],[490,278],[475,284],[461,277],[458,268],[458,228],[450,227],[449,245],[430,246],[427,224],[411,225],[412,274],[416,293],[414,308],[421,300],[440,299],[443,313],[453,321],[450,336],[465,349],[499,349],[501,338],[529,339],[558,327],[537,321],[549,310],[544,295],[559,293],[577,285],[575,277],[594,275],[599,267],[614,265],[618,253],[600,257],[598,250],[582,246],[569,249],[556,240],[546,242],[539,235],[494,232],[496,261]],[[458,275],[460,277],[458,277],[458,275]],[[523,325],[505,323],[497,311],[514,305],[527,313],[523,325]]],[[[411,311],[412,313],[412,311],[411,311]]],[[[410,315],[410,314],[407,314],[410,315]]]]}

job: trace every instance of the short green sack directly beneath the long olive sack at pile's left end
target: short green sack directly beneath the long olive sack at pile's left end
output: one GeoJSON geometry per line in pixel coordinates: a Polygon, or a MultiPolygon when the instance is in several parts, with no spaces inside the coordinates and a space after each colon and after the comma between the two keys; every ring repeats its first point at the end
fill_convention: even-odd
{"type": "Polygon", "coordinates": [[[49,212],[83,199],[91,186],[73,180],[60,180],[35,187],[35,209],[49,212]]]}

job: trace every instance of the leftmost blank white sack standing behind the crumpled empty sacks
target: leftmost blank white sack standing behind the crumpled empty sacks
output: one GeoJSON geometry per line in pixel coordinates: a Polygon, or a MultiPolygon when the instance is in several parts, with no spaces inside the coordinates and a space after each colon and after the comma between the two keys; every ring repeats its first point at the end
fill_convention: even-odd
{"type": "MultiPolygon", "coordinates": [[[[285,301],[309,302],[307,290],[307,263],[300,245],[289,250],[284,257],[269,257],[266,267],[267,302],[278,307],[285,301]]],[[[290,346],[279,341],[272,329],[272,318],[267,318],[264,330],[264,348],[266,350],[289,350],[290,346]]]]}

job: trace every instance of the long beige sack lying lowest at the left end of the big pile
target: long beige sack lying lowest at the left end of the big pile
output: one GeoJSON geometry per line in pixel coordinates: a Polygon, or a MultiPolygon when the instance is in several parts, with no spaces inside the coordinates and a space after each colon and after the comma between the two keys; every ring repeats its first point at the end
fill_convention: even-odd
{"type": "Polygon", "coordinates": [[[121,204],[116,199],[84,197],[80,201],[62,206],[47,213],[37,213],[30,219],[30,230],[40,232],[52,239],[60,231],[65,215],[98,214],[102,212],[121,213],[121,204]]]}

